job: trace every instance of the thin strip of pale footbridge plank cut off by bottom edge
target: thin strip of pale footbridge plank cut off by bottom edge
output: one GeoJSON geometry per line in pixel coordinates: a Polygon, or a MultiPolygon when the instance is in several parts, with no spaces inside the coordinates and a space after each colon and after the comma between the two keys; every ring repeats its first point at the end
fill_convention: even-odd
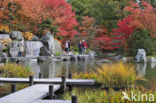
{"type": "Polygon", "coordinates": [[[71,100],[36,100],[32,103],[71,103],[71,100]]]}

